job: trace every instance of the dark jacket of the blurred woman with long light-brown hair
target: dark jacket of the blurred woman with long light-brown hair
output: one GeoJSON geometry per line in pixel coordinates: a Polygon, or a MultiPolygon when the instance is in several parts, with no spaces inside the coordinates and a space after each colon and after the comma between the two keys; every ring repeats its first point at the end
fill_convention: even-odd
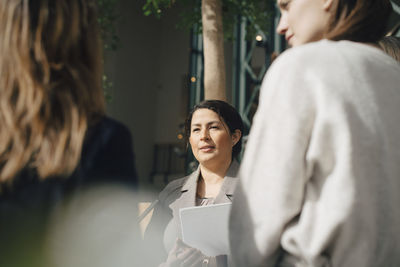
{"type": "Polygon", "coordinates": [[[69,177],[40,180],[34,169],[25,169],[11,185],[1,185],[0,266],[18,266],[12,253],[29,254],[20,258],[39,255],[36,248],[31,252],[32,247],[39,247],[53,207],[71,193],[96,183],[137,186],[131,134],[107,117],[88,129],[81,160],[69,177]]]}

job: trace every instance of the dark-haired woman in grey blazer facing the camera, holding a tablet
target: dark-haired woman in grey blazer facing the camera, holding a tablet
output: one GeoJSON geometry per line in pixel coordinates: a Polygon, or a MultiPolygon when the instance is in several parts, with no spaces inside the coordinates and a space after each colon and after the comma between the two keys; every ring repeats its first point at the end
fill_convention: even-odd
{"type": "Polygon", "coordinates": [[[164,261],[162,266],[226,266],[226,256],[206,257],[180,240],[179,210],[232,201],[243,122],[228,103],[205,100],[188,115],[185,132],[199,167],[170,182],[160,193],[145,235],[152,242],[150,257],[154,265],[164,261]]]}

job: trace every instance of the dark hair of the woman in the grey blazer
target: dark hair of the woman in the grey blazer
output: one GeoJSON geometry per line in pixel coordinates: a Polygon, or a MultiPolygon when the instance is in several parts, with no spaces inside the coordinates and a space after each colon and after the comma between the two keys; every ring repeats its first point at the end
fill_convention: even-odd
{"type": "MultiPolygon", "coordinates": [[[[186,140],[189,140],[192,117],[196,110],[198,109],[209,109],[218,114],[218,116],[226,123],[229,128],[231,134],[235,132],[235,130],[240,130],[243,135],[243,121],[242,117],[240,117],[239,112],[229,105],[228,103],[221,100],[204,100],[199,104],[195,105],[193,109],[190,111],[186,122],[185,122],[185,135],[186,140]]],[[[242,150],[242,137],[240,137],[239,141],[232,148],[232,158],[235,158],[239,155],[242,150]]]]}

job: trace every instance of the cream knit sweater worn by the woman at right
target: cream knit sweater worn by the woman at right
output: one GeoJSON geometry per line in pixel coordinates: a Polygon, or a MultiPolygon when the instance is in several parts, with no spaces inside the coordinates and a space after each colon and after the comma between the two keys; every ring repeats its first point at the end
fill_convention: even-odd
{"type": "Polygon", "coordinates": [[[237,266],[400,266],[400,65],[349,41],[283,53],[239,176],[237,266]]]}

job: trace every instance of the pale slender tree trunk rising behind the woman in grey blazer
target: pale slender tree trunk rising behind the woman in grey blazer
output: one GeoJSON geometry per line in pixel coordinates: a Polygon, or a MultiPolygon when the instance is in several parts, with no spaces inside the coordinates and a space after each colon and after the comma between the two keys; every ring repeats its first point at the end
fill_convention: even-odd
{"type": "Polygon", "coordinates": [[[226,101],[221,0],[202,0],[204,98],[226,101]]]}

